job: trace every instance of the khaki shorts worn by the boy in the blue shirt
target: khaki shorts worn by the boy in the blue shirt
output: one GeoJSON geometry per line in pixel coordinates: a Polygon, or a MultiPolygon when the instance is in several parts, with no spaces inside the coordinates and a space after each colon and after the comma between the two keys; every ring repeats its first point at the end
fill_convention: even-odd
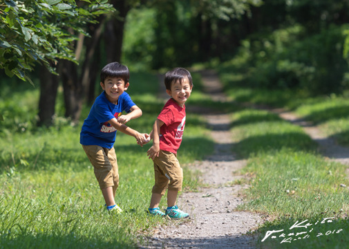
{"type": "Polygon", "coordinates": [[[93,165],[100,189],[113,187],[115,193],[119,185],[119,172],[114,147],[111,149],[98,145],[82,145],[82,147],[93,165]]]}

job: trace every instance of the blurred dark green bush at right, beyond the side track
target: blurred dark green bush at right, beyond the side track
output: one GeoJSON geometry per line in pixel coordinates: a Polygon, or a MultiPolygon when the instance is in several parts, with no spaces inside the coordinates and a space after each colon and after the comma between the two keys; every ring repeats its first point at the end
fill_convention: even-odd
{"type": "Polygon", "coordinates": [[[343,59],[343,30],[330,26],[308,35],[295,25],[246,39],[235,60],[244,84],[267,89],[303,89],[312,94],[339,93],[348,86],[343,59]],[[247,58],[247,59],[246,59],[247,58]]]}

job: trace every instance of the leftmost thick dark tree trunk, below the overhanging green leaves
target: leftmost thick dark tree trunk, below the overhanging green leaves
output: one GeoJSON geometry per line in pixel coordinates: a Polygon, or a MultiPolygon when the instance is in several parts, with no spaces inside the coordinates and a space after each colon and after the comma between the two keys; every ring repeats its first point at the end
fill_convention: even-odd
{"type": "Polygon", "coordinates": [[[49,127],[53,124],[55,116],[59,77],[50,73],[45,66],[40,66],[40,71],[39,120],[37,126],[49,127]]]}

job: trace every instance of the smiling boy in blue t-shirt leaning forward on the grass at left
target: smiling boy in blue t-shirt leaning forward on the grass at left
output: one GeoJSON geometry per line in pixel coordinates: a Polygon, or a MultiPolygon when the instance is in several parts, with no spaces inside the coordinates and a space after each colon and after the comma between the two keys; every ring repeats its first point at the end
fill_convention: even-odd
{"type": "Polygon", "coordinates": [[[129,120],[142,116],[142,110],[125,92],[129,88],[129,68],[113,62],[104,66],[100,77],[104,91],[96,98],[84,120],[80,143],[93,165],[106,209],[120,213],[122,209],[115,203],[115,192],[119,185],[117,158],[113,147],[116,131],[135,137],[140,145],[149,135],[125,125],[129,120]],[[122,115],[122,111],[127,114],[122,115]]]}

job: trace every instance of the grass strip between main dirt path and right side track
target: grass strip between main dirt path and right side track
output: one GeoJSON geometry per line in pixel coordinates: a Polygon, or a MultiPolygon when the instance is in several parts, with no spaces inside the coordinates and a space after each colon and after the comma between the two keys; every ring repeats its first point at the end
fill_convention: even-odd
{"type": "Polygon", "coordinates": [[[234,151],[248,159],[241,174],[252,176],[246,202],[237,210],[258,212],[270,220],[256,230],[260,248],[336,248],[349,242],[344,232],[349,224],[349,190],[341,187],[349,185],[345,165],[325,160],[301,127],[268,111],[237,111],[232,115],[232,133],[234,151]],[[333,217],[333,222],[313,226],[312,234],[311,228],[295,229],[308,232],[310,237],[296,237],[295,230],[290,230],[296,221],[316,223],[328,217],[333,217]],[[261,242],[272,230],[291,235],[279,237],[280,232],[261,242]],[[317,236],[321,233],[324,235],[317,236]]]}

